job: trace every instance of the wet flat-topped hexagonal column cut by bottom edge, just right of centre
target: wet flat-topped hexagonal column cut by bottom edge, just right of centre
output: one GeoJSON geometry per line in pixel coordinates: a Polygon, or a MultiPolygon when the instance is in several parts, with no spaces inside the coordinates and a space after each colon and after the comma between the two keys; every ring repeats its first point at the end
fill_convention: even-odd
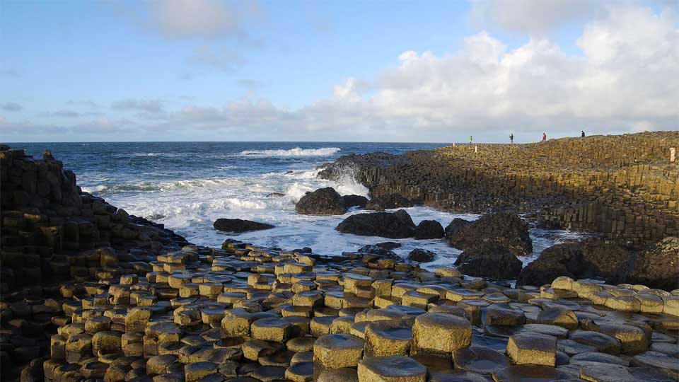
{"type": "Polygon", "coordinates": [[[367,357],[358,367],[360,382],[425,382],[426,367],[409,357],[367,357]]]}

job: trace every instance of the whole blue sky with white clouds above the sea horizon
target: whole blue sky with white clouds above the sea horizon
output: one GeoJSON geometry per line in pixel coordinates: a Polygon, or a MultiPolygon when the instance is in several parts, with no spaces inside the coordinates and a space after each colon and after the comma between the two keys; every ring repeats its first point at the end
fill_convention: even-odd
{"type": "Polygon", "coordinates": [[[0,142],[679,130],[677,4],[0,0],[0,142]]]}

